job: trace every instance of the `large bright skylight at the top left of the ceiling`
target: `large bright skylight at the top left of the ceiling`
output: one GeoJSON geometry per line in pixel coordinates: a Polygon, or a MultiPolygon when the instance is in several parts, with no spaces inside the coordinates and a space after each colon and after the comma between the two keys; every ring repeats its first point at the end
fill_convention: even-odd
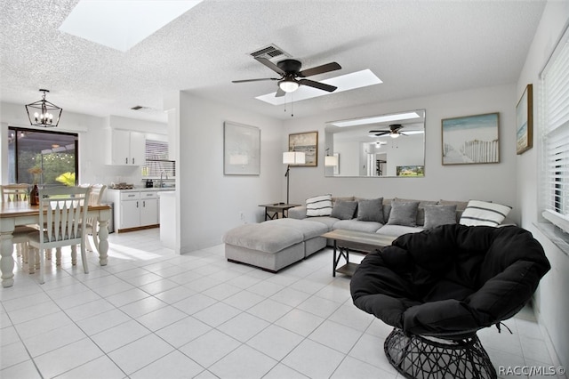
{"type": "Polygon", "coordinates": [[[201,0],[81,0],[60,31],[126,52],[199,3],[201,0]]]}

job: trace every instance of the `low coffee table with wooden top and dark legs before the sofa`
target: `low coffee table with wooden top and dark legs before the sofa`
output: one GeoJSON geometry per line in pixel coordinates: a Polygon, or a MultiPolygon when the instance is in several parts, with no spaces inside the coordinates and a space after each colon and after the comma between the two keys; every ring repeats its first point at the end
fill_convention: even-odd
{"type": "Polygon", "coordinates": [[[359,254],[368,254],[376,249],[391,245],[391,242],[397,238],[354,230],[333,230],[323,234],[322,237],[334,241],[333,277],[336,276],[336,272],[351,277],[356,271],[359,264],[349,262],[350,250],[359,254]],[[338,263],[342,257],[346,260],[346,264],[339,268],[338,263]]]}

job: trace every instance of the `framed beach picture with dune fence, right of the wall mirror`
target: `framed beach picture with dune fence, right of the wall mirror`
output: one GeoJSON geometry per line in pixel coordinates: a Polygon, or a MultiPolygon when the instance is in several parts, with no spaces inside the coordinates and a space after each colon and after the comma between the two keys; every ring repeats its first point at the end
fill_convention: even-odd
{"type": "Polygon", "coordinates": [[[499,124],[498,113],[443,119],[443,165],[499,163],[499,124]]]}

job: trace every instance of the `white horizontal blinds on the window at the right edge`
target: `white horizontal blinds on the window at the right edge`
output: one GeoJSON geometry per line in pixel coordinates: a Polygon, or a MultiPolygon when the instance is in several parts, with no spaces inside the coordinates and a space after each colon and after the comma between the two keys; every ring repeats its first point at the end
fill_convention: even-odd
{"type": "Polygon", "coordinates": [[[541,76],[544,141],[543,217],[569,231],[569,32],[541,76]]]}

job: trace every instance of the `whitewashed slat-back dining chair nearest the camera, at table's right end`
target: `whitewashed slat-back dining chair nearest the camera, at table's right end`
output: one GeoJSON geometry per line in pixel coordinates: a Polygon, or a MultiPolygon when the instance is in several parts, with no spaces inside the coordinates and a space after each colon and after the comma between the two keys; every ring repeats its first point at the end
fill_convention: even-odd
{"type": "Polygon", "coordinates": [[[87,207],[91,187],[55,187],[39,190],[40,209],[39,224],[44,230],[28,235],[28,244],[39,254],[29,254],[29,264],[34,257],[39,256],[39,282],[44,284],[45,260],[44,250],[71,246],[71,259],[76,256],[76,246],[81,246],[81,261],[84,273],[89,273],[85,254],[85,228],[87,222],[87,207]]]}

